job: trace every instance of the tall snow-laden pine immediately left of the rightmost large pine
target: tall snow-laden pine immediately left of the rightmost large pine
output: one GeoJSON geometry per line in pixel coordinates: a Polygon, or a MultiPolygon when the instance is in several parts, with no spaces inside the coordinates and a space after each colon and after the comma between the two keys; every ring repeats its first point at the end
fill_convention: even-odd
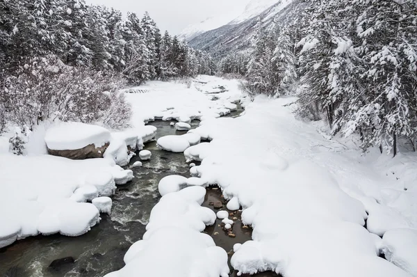
{"type": "Polygon", "coordinates": [[[299,112],[313,120],[324,114],[337,132],[352,108],[350,102],[361,93],[359,58],[350,38],[354,9],[342,0],[312,0],[305,13],[309,22],[298,46],[302,46],[300,74],[307,88],[300,95],[299,112]]]}

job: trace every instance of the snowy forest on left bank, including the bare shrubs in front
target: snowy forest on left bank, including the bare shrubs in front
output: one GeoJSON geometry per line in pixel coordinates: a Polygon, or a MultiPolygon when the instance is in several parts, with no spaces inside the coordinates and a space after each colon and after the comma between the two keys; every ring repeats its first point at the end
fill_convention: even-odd
{"type": "Polygon", "coordinates": [[[0,133],[50,119],[126,127],[120,88],[214,72],[211,56],[161,34],[148,13],[123,17],[83,0],[0,1],[0,133]]]}

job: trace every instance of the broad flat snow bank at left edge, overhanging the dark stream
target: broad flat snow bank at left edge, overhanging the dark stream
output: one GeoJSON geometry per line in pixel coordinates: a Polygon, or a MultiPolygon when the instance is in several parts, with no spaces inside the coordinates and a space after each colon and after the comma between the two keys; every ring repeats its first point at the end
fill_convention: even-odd
{"type": "Polygon", "coordinates": [[[132,178],[109,159],[0,154],[0,246],[38,234],[83,235],[99,211],[79,202],[111,195],[115,180],[132,178]]]}

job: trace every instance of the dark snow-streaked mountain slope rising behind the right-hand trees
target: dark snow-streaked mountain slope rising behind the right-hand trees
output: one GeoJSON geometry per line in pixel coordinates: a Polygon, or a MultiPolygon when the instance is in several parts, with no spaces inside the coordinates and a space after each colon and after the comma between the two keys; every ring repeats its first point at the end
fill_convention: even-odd
{"type": "Polygon", "coordinates": [[[245,13],[218,29],[199,33],[189,40],[191,47],[222,58],[231,51],[243,51],[250,47],[255,32],[254,26],[261,18],[264,26],[272,27],[274,22],[286,24],[300,15],[305,3],[301,0],[252,0],[245,13]],[[272,6],[268,6],[272,3],[272,6]],[[259,12],[261,7],[264,10],[259,12]]]}

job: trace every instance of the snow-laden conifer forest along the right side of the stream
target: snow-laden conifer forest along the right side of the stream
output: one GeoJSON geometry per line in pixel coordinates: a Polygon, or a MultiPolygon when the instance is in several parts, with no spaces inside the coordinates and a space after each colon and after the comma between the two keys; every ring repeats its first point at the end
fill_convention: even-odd
{"type": "Polygon", "coordinates": [[[252,49],[220,62],[253,94],[297,95],[297,112],[362,148],[416,150],[417,1],[304,0],[300,16],[254,26],[252,49]],[[405,143],[405,144],[404,144],[405,143]]]}

